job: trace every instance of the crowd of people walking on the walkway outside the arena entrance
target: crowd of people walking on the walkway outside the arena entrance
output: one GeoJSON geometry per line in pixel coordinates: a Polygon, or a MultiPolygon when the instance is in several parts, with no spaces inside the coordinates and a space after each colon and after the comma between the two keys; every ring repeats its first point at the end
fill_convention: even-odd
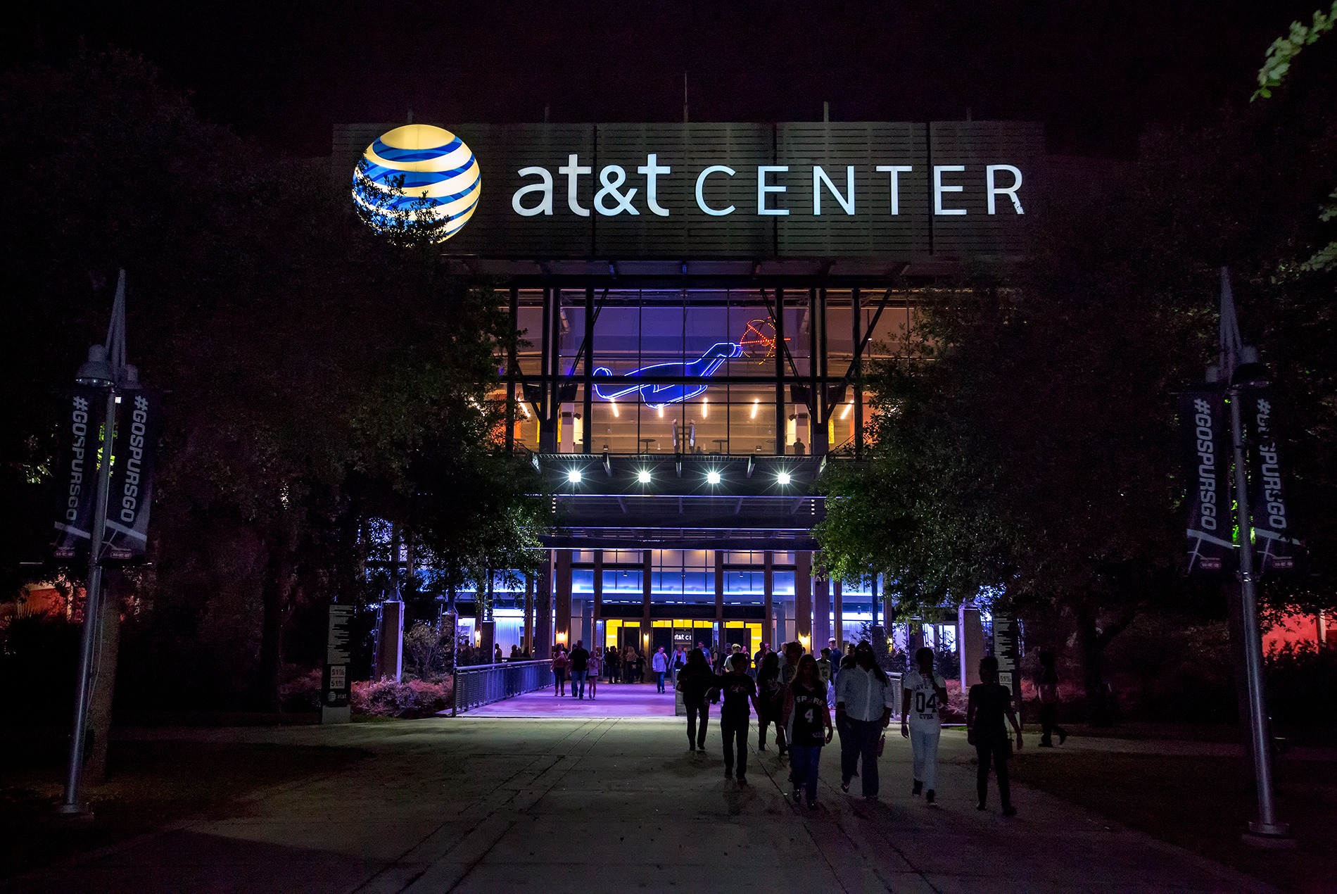
{"type": "MultiPolygon", "coordinates": [[[[777,756],[789,759],[790,796],[796,804],[817,806],[818,768],[825,745],[840,740],[841,791],[849,792],[860,780],[860,794],[876,800],[880,791],[878,757],[886,743],[893,715],[901,719],[901,736],[909,739],[913,753],[910,794],[927,804],[937,803],[937,747],[941,736],[941,708],[947,705],[947,681],[935,669],[935,653],[921,648],[915,666],[901,677],[900,704],[894,684],[884,670],[868,640],[845,654],[836,640],[808,654],[800,642],[786,642],[778,650],[761,644],[751,657],[742,645],[717,650],[698,642],[690,652],[655,649],[648,661],[634,645],[620,649],[582,641],[571,650],[560,644],[552,652],[554,695],[595,699],[599,680],[643,683],[652,675],[656,692],[666,683],[682,696],[687,711],[687,749],[703,755],[710,725],[710,707],[719,705],[719,735],[725,778],[747,786],[747,749],[751,719],[757,717],[757,751],[767,749],[773,736],[777,756]]],[[[1058,677],[1052,658],[1042,654],[1042,747],[1050,747],[1054,733],[1062,743],[1067,732],[1055,723],[1058,677]],[[1048,696],[1048,700],[1046,699],[1048,696]]],[[[980,660],[980,683],[967,699],[967,739],[976,753],[977,810],[988,808],[989,776],[996,779],[1003,815],[1012,816],[1008,759],[1013,741],[1021,748],[1021,727],[1012,707],[1012,692],[999,683],[997,658],[980,660]],[[1011,725],[1011,733],[1008,731],[1011,725]]]]}

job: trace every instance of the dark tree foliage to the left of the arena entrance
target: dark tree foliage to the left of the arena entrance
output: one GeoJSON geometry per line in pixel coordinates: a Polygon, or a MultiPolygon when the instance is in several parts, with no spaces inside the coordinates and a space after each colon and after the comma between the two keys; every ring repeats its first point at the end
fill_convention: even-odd
{"type": "MultiPolygon", "coordinates": [[[[318,654],[320,606],[365,596],[370,518],[443,567],[528,543],[532,482],[489,400],[515,333],[431,233],[376,236],[325,163],[201,120],[120,52],[5,75],[0,158],[7,495],[49,476],[57,396],[118,268],[131,360],[167,392],[152,565],[126,593],[152,685],[230,680],[273,704],[285,650],[318,654]]],[[[16,542],[9,582],[33,558],[16,542]]]]}

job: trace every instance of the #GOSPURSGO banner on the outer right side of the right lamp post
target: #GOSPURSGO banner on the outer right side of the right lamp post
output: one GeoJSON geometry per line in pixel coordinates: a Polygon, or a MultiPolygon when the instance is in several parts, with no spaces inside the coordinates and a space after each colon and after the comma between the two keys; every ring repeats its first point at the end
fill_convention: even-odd
{"type": "Polygon", "coordinates": [[[1273,400],[1267,389],[1242,397],[1249,430],[1249,514],[1254,533],[1258,573],[1289,571],[1296,565],[1298,541],[1292,538],[1282,486],[1281,458],[1273,430],[1273,400]]]}

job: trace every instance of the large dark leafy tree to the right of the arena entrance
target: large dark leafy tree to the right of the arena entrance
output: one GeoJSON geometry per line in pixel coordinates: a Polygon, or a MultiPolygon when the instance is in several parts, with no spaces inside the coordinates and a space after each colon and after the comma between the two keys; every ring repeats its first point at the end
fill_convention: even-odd
{"type": "MultiPolygon", "coordinates": [[[[1324,182],[1324,132],[1253,111],[1151,131],[1136,162],[1047,193],[1025,262],[927,293],[920,359],[874,372],[868,467],[830,480],[818,535],[833,567],[882,570],[912,600],[992,586],[1023,616],[1063,620],[1104,716],[1103,653],[1139,612],[1223,613],[1178,577],[1173,407],[1214,360],[1221,265],[1309,427],[1288,446],[1309,533],[1332,543],[1317,505],[1333,494],[1332,281],[1285,264],[1320,238],[1298,210],[1324,182]]],[[[1317,543],[1320,577],[1270,582],[1275,604],[1297,589],[1332,604],[1317,543]]]]}

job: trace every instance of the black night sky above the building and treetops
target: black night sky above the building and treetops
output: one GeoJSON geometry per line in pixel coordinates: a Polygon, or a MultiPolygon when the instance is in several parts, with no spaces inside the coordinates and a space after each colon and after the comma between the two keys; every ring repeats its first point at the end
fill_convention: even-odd
{"type": "Polygon", "coordinates": [[[210,119],[282,154],[336,122],[1029,119],[1120,155],[1154,120],[1243,103],[1320,0],[981,3],[64,3],[0,25],[7,63],[142,52],[210,119]],[[112,11],[110,7],[115,7],[112,11]]]}

